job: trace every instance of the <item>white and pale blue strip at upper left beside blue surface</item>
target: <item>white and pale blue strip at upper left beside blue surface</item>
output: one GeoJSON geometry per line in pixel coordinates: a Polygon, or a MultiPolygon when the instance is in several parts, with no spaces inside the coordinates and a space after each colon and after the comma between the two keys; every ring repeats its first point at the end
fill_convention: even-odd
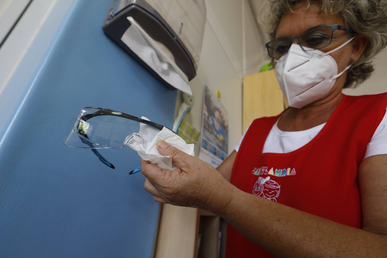
{"type": "MultiPolygon", "coordinates": [[[[22,1],[25,2],[12,0],[9,7],[13,3],[21,4],[22,1]]],[[[9,126],[10,117],[21,105],[20,96],[24,96],[27,91],[41,57],[47,52],[74,2],[34,0],[0,48],[0,132],[8,132],[5,126],[9,126]]],[[[3,26],[3,18],[0,17],[0,27],[3,26]]],[[[0,135],[0,145],[6,133],[0,135]]]]}

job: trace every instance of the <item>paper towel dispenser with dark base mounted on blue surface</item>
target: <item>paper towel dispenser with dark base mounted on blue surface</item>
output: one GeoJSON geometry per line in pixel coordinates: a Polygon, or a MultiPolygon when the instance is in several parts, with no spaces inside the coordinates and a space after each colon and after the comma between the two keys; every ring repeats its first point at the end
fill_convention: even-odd
{"type": "Polygon", "coordinates": [[[112,0],[103,31],[166,86],[171,85],[122,41],[132,26],[132,17],[142,29],[162,43],[188,80],[196,76],[202,48],[206,9],[204,0],[112,0]]]}

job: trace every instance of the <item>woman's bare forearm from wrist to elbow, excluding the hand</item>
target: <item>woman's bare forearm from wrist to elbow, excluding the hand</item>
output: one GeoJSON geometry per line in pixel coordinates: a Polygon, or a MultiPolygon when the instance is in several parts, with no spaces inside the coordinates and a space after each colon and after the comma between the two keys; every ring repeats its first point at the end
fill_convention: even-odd
{"type": "Polygon", "coordinates": [[[237,188],[219,215],[245,237],[283,257],[384,257],[387,239],[237,188]]]}

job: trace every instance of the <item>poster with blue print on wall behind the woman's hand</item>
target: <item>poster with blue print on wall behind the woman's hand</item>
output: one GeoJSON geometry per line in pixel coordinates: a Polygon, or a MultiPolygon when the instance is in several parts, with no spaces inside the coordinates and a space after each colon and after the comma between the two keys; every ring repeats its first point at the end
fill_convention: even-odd
{"type": "Polygon", "coordinates": [[[228,114],[220,99],[204,87],[199,159],[214,167],[228,156],[228,114]]]}

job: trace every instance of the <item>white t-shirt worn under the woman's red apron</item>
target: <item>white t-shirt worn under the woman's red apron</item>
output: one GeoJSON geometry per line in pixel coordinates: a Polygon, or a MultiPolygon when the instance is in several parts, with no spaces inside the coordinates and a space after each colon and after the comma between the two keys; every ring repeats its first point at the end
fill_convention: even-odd
{"type": "MultiPolygon", "coordinates": [[[[271,128],[270,133],[266,138],[263,153],[289,153],[293,150],[300,149],[310,142],[326,124],[324,123],[304,131],[284,132],[279,130],[277,123],[278,121],[271,128]]],[[[234,148],[237,152],[245,134],[246,133],[243,134],[234,148]]],[[[380,154],[387,154],[387,111],[373,134],[371,141],[367,145],[364,159],[380,154]]]]}

